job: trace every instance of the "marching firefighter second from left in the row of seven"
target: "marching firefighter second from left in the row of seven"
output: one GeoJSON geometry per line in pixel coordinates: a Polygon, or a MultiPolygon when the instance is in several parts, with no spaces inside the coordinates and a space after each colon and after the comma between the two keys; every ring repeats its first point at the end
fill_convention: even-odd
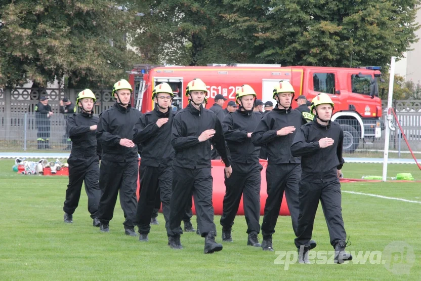
{"type": "Polygon", "coordinates": [[[131,107],[132,86],[121,79],[114,84],[114,105],[101,113],[96,132],[102,146],[99,175],[101,199],[98,208],[100,229],[109,231],[118,191],[124,212],[124,233],[138,236],[135,232],[136,189],[139,172],[138,147],[132,141],[133,126],[140,118],[140,111],[131,107]]]}

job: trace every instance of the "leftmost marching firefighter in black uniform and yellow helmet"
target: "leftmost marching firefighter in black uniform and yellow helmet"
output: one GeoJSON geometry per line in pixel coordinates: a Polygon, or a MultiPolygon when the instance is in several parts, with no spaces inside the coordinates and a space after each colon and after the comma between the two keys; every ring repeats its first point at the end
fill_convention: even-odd
{"type": "Polygon", "coordinates": [[[99,159],[101,146],[97,145],[95,130],[98,117],[93,116],[96,97],[91,90],[80,92],[76,104],[80,107],[79,114],[72,114],[67,118],[67,134],[73,147],[69,164],[69,184],[66,189],[64,201],[64,222],[73,222],[73,213],[79,204],[82,183],[85,181],[85,190],[88,195],[88,211],[94,220],[93,225],[99,226],[98,204],[101,196],[99,188],[99,159]]]}

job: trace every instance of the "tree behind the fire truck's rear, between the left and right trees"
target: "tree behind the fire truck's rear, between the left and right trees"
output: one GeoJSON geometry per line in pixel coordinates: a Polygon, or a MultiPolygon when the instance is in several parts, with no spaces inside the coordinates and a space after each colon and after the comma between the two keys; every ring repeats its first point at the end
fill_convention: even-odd
{"type": "Polygon", "coordinates": [[[232,61],[236,45],[220,32],[227,23],[223,1],[145,0],[127,4],[137,17],[133,45],[150,63],[205,65],[232,61]]]}

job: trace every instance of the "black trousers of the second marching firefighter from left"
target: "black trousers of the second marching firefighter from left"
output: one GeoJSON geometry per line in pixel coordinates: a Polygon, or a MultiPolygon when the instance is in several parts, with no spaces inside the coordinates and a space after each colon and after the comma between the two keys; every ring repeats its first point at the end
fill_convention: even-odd
{"type": "Polygon", "coordinates": [[[124,228],[134,228],[137,207],[138,165],[137,159],[130,162],[101,161],[99,176],[101,199],[98,218],[102,224],[108,224],[112,219],[118,191],[120,191],[120,205],[125,218],[124,228]]]}

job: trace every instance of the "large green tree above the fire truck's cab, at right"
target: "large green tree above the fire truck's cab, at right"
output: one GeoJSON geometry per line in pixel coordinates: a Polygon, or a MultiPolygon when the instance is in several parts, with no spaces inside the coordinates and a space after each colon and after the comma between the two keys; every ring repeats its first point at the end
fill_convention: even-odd
{"type": "Polygon", "coordinates": [[[223,29],[250,62],[387,66],[416,42],[419,0],[226,0],[223,29]]]}

